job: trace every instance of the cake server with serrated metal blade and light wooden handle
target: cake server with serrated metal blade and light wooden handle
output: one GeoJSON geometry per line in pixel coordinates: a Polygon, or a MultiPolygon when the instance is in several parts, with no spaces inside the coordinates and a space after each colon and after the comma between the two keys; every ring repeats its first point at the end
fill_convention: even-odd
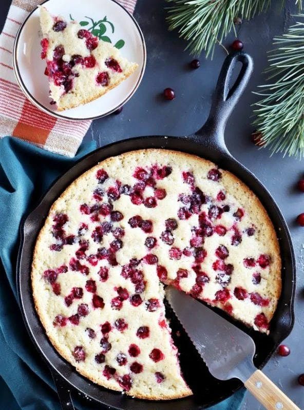
{"type": "Polygon", "coordinates": [[[300,410],[255,367],[255,344],[250,336],[172,286],[166,289],[166,298],[214,377],[237,377],[268,410],[300,410]]]}

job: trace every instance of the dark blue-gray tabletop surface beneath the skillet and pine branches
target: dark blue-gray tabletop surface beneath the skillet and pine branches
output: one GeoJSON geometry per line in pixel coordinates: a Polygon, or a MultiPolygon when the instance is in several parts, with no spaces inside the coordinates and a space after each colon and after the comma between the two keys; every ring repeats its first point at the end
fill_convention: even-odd
{"type": "MultiPolygon", "coordinates": [[[[296,12],[295,0],[287,2],[280,11],[280,1],[273,0],[272,9],[244,22],[239,38],[244,50],[252,55],[255,71],[249,87],[241,98],[226,128],[225,139],[231,153],[248,167],[269,189],[277,201],[291,229],[297,256],[297,293],[295,326],[286,340],[291,348],[288,357],[275,355],[264,368],[267,374],[295,403],[304,409],[304,387],[298,385],[298,375],[304,373],[304,228],[297,227],[295,217],[304,212],[304,194],[295,189],[300,177],[304,177],[304,162],[293,158],[282,159],[281,154],[270,157],[267,149],[258,150],[251,142],[252,107],[257,96],[252,91],[262,84],[262,74],[267,65],[266,53],[272,48],[272,38],[281,34],[292,22],[296,12]]],[[[10,0],[1,0],[0,27],[4,23],[10,0]]],[[[214,59],[201,56],[201,67],[189,70],[191,61],[184,52],[185,43],[177,33],[169,33],[165,23],[162,0],[138,0],[135,17],[141,26],[147,46],[147,67],[142,83],[120,115],[95,120],[85,140],[95,139],[99,146],[109,142],[140,135],[187,135],[203,125],[210,109],[211,95],[220,71],[224,50],[218,46],[214,59]],[[176,99],[164,101],[160,93],[166,87],[176,91],[176,99]]],[[[231,34],[225,45],[231,44],[231,34]]],[[[203,380],[202,380],[203,383],[203,380]]],[[[242,410],[262,408],[250,395],[246,395],[242,410]]]]}

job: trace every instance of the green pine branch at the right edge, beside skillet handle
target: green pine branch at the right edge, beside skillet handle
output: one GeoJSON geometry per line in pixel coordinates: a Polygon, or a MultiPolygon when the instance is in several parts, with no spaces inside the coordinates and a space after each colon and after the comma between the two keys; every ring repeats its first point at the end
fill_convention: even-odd
{"type": "Polygon", "coordinates": [[[278,48],[266,70],[272,84],[260,86],[254,125],[265,147],[285,156],[304,157],[304,14],[286,34],[274,38],[278,48]]]}

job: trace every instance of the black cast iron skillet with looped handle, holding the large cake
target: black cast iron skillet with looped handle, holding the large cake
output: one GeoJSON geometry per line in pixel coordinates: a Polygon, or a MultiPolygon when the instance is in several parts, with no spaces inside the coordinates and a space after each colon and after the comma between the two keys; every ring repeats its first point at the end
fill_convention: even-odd
{"type": "MultiPolygon", "coordinates": [[[[157,403],[155,401],[137,400],[100,387],[79,375],[54,350],[46,337],[34,309],[30,284],[32,253],[37,234],[42,228],[54,200],[75,178],[107,157],[147,148],[183,151],[210,159],[220,168],[232,172],[248,185],[263,203],[276,229],[282,257],[283,286],[278,308],[271,322],[269,336],[246,329],[240,323],[236,324],[254,339],[256,344],[254,361],[259,368],[269,360],[278,344],[291,332],[294,322],[293,302],[296,277],[295,256],[286,222],[269,192],[249,170],[232,157],[224,143],[223,132],[227,118],[248,83],[252,70],[253,62],[249,55],[236,53],[227,56],[218,79],[210,116],[202,129],[194,135],[181,138],[152,136],[128,139],[88,154],[54,183],[37,208],[25,220],[22,228],[22,245],[17,269],[17,286],[21,309],[28,332],[53,374],[64,410],[72,408],[71,388],[75,388],[78,393],[82,392],[87,397],[96,400],[95,403],[104,403],[115,409],[199,410],[229,397],[242,385],[237,379],[219,381],[208,373],[202,359],[198,356],[194,346],[169,309],[167,314],[172,320],[173,336],[175,337],[176,330],[181,333],[180,337],[175,337],[175,343],[180,351],[182,370],[186,381],[194,391],[194,396],[180,400],[159,401],[157,403]],[[230,88],[231,74],[238,61],[242,63],[242,68],[235,84],[230,88]]],[[[220,314],[224,315],[223,313],[220,314]]]]}

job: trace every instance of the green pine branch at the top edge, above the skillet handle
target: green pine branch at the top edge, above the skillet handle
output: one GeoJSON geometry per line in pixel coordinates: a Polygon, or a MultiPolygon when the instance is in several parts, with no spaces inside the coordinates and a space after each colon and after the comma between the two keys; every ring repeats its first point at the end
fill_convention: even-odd
{"type": "MultiPolygon", "coordinates": [[[[226,35],[234,30],[235,18],[251,19],[266,11],[271,0],[166,0],[173,3],[168,8],[169,30],[177,29],[180,37],[188,41],[186,49],[191,54],[206,51],[214,53],[216,43],[222,43],[226,35]]],[[[284,0],[282,1],[282,5],[284,0]]],[[[302,0],[296,0],[301,10],[302,0]]]]}

